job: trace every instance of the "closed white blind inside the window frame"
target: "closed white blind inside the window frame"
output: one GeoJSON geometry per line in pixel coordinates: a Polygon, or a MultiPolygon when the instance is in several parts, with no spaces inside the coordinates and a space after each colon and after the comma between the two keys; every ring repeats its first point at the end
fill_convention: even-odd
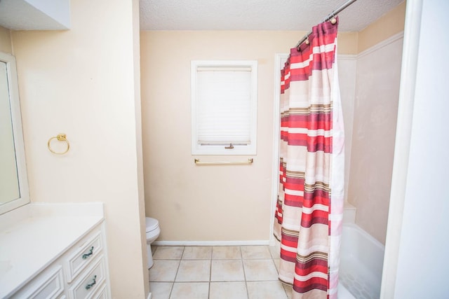
{"type": "Polygon", "coordinates": [[[251,68],[201,67],[197,70],[198,144],[250,144],[251,68]]]}

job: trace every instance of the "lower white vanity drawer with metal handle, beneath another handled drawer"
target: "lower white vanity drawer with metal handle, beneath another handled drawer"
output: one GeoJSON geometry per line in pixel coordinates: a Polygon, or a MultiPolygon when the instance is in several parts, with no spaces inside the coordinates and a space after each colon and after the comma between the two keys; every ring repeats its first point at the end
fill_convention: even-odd
{"type": "Polygon", "coordinates": [[[93,261],[93,266],[86,270],[86,274],[69,288],[69,298],[92,298],[95,291],[102,286],[105,277],[105,258],[102,255],[93,261]]]}

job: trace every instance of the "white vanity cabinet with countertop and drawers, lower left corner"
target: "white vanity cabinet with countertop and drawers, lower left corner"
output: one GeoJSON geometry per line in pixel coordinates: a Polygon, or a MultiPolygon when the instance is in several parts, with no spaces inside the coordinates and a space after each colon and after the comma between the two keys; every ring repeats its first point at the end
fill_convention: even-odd
{"type": "MultiPolygon", "coordinates": [[[[13,233],[23,233],[23,223],[34,232],[18,258],[14,250],[1,252],[11,261],[6,273],[0,272],[0,298],[110,298],[105,221],[102,216],[44,216],[22,222],[13,233]],[[39,242],[40,241],[40,242],[39,242]],[[36,243],[34,243],[36,242],[36,243]],[[55,249],[56,248],[56,249],[55,249]],[[51,253],[48,253],[50,251],[51,253]],[[42,257],[44,256],[44,257],[42,257]],[[22,263],[25,262],[25,263],[22,263]],[[8,273],[9,272],[9,273],[8,273]],[[9,274],[8,276],[2,274],[9,274]],[[14,277],[18,274],[18,277],[14,277]],[[2,284],[10,290],[2,290],[2,284]],[[5,293],[2,293],[5,291],[5,293]]],[[[8,234],[6,234],[8,235],[8,234]]],[[[5,237],[5,235],[4,235],[5,237]]],[[[22,236],[25,237],[25,236],[22,236]]],[[[16,238],[18,239],[18,238],[16,238]]],[[[1,233],[0,233],[0,242],[1,233]]],[[[6,246],[8,239],[4,239],[6,246]]]]}

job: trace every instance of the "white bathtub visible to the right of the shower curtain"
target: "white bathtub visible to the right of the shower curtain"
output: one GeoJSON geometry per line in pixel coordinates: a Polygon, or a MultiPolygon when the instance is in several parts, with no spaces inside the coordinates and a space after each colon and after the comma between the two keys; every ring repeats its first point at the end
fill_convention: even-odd
{"type": "Polygon", "coordinates": [[[354,223],[344,223],[338,298],[379,298],[383,262],[384,245],[354,223]]]}

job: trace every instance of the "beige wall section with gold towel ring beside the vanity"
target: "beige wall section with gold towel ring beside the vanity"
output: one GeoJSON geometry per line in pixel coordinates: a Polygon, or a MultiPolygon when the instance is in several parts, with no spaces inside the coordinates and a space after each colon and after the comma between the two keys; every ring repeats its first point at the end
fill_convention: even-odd
{"type": "Polygon", "coordinates": [[[145,298],[148,291],[138,5],[73,0],[71,30],[12,34],[31,199],[105,202],[113,298],[145,298]],[[60,132],[71,147],[57,156],[46,143],[60,132]]]}

